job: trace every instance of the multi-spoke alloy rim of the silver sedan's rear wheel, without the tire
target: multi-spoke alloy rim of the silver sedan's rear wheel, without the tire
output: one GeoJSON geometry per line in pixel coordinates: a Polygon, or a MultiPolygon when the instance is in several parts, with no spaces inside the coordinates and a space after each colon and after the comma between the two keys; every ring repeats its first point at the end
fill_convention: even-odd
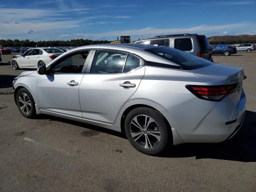
{"type": "Polygon", "coordinates": [[[161,131],[155,120],[146,115],[138,115],[130,124],[132,138],[139,146],[152,149],[161,140],[161,131]]]}

